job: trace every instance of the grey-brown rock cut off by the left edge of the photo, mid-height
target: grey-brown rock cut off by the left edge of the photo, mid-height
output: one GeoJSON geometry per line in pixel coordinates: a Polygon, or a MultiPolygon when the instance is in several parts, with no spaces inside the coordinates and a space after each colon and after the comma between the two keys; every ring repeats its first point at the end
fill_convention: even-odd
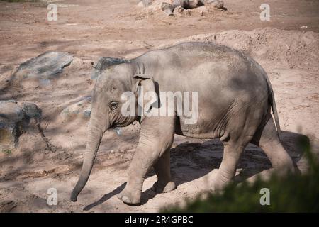
{"type": "Polygon", "coordinates": [[[35,104],[0,101],[0,150],[15,148],[30,119],[38,121],[40,117],[41,110],[35,104]]]}

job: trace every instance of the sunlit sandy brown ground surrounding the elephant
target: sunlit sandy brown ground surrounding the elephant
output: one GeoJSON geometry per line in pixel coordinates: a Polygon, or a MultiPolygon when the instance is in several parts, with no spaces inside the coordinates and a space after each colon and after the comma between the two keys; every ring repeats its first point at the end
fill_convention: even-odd
{"type": "MultiPolygon", "coordinates": [[[[56,148],[55,153],[47,150],[36,128],[30,126],[12,154],[0,154],[0,211],[151,212],[181,204],[208,189],[223,146],[219,140],[177,136],[171,158],[177,189],[155,194],[151,187],[156,176],[151,171],[140,206],[127,206],[117,199],[138,142],[135,124],[123,128],[121,135],[115,131],[104,135],[88,184],[76,203],[69,201],[82,165],[88,118],[64,114],[64,110],[79,101],[83,108],[89,106],[92,62],[101,56],[129,59],[186,40],[230,45],[254,57],[271,79],[284,131],[281,140],[302,172],[307,165],[295,145],[298,135],[308,135],[318,152],[318,1],[269,0],[270,21],[259,20],[264,1],[225,0],[228,11],[175,17],[143,11],[132,0],[55,2],[58,20],[49,22],[47,4],[0,1],[0,99],[38,104],[43,109],[45,136],[56,148]],[[19,64],[48,50],[70,52],[74,61],[45,87],[28,81],[8,86],[19,64]],[[57,206],[47,205],[49,188],[57,189],[57,206]]],[[[267,177],[270,172],[262,150],[249,145],[235,180],[267,177]]]]}

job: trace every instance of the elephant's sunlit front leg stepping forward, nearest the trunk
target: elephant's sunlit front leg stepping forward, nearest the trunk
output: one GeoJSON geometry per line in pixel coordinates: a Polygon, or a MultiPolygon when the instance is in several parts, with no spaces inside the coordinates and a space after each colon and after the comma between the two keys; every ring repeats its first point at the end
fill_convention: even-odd
{"type": "MultiPolygon", "coordinates": [[[[118,196],[125,204],[140,203],[142,185],[150,167],[156,164],[155,168],[162,170],[162,167],[165,166],[164,162],[167,164],[167,160],[169,167],[169,153],[166,151],[171,148],[173,140],[174,117],[145,118],[141,124],[140,141],[128,169],[128,182],[123,192],[118,196]]],[[[161,187],[167,181],[170,182],[170,173],[167,172],[167,167],[158,173],[161,187]]],[[[167,186],[167,189],[172,188],[172,184],[170,185],[167,186]]]]}

